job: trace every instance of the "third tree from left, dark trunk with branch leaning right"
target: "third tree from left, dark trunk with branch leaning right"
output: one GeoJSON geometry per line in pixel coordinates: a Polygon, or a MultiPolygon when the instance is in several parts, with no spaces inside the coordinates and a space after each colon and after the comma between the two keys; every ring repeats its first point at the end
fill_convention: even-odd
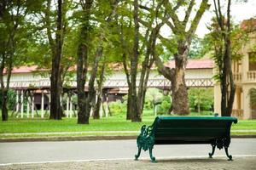
{"type": "Polygon", "coordinates": [[[115,8],[119,0],[112,0],[106,3],[105,1],[99,1],[97,4],[94,4],[93,0],[84,0],[80,1],[80,6],[82,8],[82,16],[81,16],[81,26],[80,26],[80,42],[77,51],[77,87],[78,87],[78,105],[79,105],[79,113],[78,113],[78,123],[79,124],[88,124],[89,116],[92,106],[95,104],[96,98],[96,89],[95,89],[95,81],[96,81],[96,73],[98,71],[99,62],[102,59],[104,44],[105,41],[105,29],[108,29],[109,24],[113,20],[113,15],[115,13],[115,8]],[[104,6],[107,5],[107,8],[104,6]],[[109,8],[108,8],[109,7],[109,8]],[[96,10],[99,14],[96,13],[96,10]],[[103,13],[105,11],[107,13],[103,13]],[[96,19],[92,18],[92,14],[95,14],[96,19]],[[108,14],[106,16],[106,14],[108,14]],[[97,15],[102,16],[101,19],[97,18],[97,15]],[[98,29],[91,22],[95,21],[99,24],[102,29],[98,32],[98,29]],[[93,29],[94,28],[94,29],[93,29]],[[96,39],[92,44],[93,40],[92,34],[95,33],[96,39]],[[91,57],[93,56],[93,57],[91,57]],[[90,79],[88,82],[88,94],[84,91],[84,85],[86,82],[87,72],[89,68],[89,64],[91,61],[91,70],[90,70],[90,79]]]}

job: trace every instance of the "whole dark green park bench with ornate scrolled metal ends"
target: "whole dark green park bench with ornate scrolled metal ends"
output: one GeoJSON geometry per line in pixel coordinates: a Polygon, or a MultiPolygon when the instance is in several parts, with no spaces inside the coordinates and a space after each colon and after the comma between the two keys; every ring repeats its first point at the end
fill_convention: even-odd
{"type": "Polygon", "coordinates": [[[218,116],[157,116],[151,126],[143,125],[137,137],[138,152],[149,150],[151,161],[154,144],[211,144],[212,158],[215,148],[225,150],[226,156],[232,160],[228,148],[230,146],[230,127],[237,123],[235,117],[218,116]]]}

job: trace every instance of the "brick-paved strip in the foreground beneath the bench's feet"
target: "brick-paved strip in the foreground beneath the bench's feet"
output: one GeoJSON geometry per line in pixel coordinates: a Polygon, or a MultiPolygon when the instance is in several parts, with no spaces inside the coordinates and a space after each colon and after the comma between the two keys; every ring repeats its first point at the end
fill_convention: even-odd
{"type": "Polygon", "coordinates": [[[234,157],[234,161],[227,161],[225,157],[208,158],[165,158],[157,163],[148,160],[105,160],[105,161],[70,161],[51,163],[31,163],[0,166],[2,170],[20,169],[41,169],[41,170],[62,170],[62,169],[91,169],[91,170],[255,170],[256,157],[234,157]]]}

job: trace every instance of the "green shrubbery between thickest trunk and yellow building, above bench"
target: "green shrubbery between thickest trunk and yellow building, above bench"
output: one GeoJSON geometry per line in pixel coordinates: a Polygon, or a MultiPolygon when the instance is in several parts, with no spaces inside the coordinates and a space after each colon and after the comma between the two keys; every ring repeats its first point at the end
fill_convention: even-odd
{"type": "Polygon", "coordinates": [[[212,111],[213,100],[212,88],[189,89],[189,105],[192,111],[212,111]]]}

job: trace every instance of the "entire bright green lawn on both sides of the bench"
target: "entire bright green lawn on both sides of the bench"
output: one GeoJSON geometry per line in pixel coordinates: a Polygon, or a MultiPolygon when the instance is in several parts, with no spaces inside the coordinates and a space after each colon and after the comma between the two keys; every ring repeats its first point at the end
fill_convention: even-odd
{"type": "MultiPolygon", "coordinates": [[[[84,136],[84,135],[127,135],[138,134],[137,132],[143,124],[150,125],[154,122],[154,116],[150,112],[146,112],[143,116],[143,122],[131,122],[125,120],[125,115],[109,116],[100,120],[90,119],[89,125],[77,124],[77,118],[63,118],[61,121],[49,120],[47,118],[12,118],[9,117],[8,122],[0,122],[0,138],[22,138],[22,137],[37,137],[38,134],[27,133],[55,133],[55,134],[40,134],[42,136],[84,136]],[[92,132],[94,131],[94,132],[92,132]],[[108,131],[108,133],[106,133],[108,131]],[[113,133],[109,131],[119,131],[113,133]],[[136,131],[136,132],[125,132],[136,131]],[[67,134],[57,134],[58,132],[69,132],[67,134]],[[70,133],[84,132],[84,133],[70,133]],[[86,133],[87,132],[87,133],[86,133]],[[88,133],[90,132],[90,133],[88,133]],[[105,133],[104,133],[105,132],[105,133]],[[6,135],[6,133],[26,133],[6,135]]],[[[196,116],[196,114],[191,114],[196,116]]],[[[256,120],[239,120],[231,128],[232,134],[256,134],[256,120]],[[237,132],[237,130],[253,130],[252,132],[237,132]]]]}

